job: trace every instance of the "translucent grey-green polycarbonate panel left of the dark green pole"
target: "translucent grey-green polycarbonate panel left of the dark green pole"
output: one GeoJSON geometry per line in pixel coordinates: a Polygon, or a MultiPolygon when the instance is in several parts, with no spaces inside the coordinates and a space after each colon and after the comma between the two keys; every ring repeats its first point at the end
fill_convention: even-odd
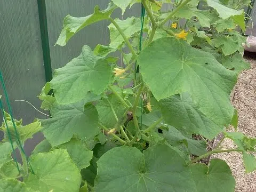
{"type": "MultiPolygon", "coordinates": [[[[45,84],[45,76],[36,0],[0,0],[0,47],[0,70],[14,117],[22,118],[23,124],[45,118],[28,103],[14,101],[27,100],[38,109],[41,105],[36,95],[45,84]]],[[[2,86],[0,94],[3,95],[2,86]]],[[[2,119],[1,114],[1,123],[2,119]]],[[[27,151],[33,148],[30,144],[27,151]]]]}

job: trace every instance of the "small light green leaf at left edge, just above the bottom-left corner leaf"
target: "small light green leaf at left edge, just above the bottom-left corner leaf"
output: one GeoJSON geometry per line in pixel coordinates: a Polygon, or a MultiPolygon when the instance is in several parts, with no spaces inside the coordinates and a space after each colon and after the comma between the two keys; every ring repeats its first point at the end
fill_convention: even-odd
{"type": "Polygon", "coordinates": [[[2,178],[15,178],[19,174],[17,165],[14,161],[8,161],[0,166],[0,179],[2,178]]]}

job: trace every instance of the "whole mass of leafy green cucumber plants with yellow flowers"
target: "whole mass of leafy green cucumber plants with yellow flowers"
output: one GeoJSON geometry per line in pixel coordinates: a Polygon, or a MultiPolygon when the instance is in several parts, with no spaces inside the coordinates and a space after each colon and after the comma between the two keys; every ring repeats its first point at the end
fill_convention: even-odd
{"type": "MultiPolygon", "coordinates": [[[[67,15],[57,45],[102,20],[110,22],[111,42],[94,50],[84,45],[78,57],[55,70],[39,95],[51,118],[26,126],[15,121],[22,142],[38,131],[46,138],[29,159],[22,158],[20,173],[5,134],[0,191],[234,191],[225,161],[206,165],[200,159],[235,151],[243,155],[246,172],[256,169],[256,139],[226,131],[229,125],[237,129],[230,92],[238,74],[250,68],[241,54],[243,7],[249,3],[113,0],[86,17],[67,15]],[[145,17],[111,17],[137,3],[145,17]],[[163,11],[166,4],[173,8],[163,11]],[[207,151],[205,140],[221,132],[219,145],[207,151]],[[222,149],[224,139],[236,147],[222,149]]],[[[10,118],[6,124],[13,133],[10,118]]]]}

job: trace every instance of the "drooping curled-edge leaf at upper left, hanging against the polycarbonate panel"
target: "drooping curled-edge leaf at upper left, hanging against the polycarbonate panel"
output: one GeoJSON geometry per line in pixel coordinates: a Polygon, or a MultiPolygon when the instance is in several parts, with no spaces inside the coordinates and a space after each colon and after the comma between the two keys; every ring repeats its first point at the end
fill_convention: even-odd
{"type": "Polygon", "coordinates": [[[79,30],[91,25],[92,23],[108,19],[114,9],[116,9],[116,6],[113,3],[109,3],[106,10],[100,10],[99,6],[96,5],[94,7],[94,13],[86,17],[76,18],[67,15],[64,19],[62,31],[56,44],[65,46],[69,39],[79,30]]]}

